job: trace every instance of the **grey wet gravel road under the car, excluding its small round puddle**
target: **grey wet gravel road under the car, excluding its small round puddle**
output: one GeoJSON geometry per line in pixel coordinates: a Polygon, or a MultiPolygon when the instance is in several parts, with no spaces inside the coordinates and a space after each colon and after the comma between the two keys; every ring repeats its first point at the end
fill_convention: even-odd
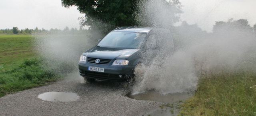
{"type": "Polygon", "coordinates": [[[161,103],[128,98],[126,83],[96,81],[83,83],[71,74],[48,86],[32,88],[0,98],[1,116],[142,116],[161,103]],[[44,92],[75,92],[78,101],[50,102],[38,98],[44,92]]]}

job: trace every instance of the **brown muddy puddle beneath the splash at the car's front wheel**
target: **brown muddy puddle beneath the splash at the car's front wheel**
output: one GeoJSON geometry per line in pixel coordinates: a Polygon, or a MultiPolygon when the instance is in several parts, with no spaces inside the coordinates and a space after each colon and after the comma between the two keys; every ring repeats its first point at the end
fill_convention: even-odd
{"type": "Polygon", "coordinates": [[[173,103],[180,100],[182,101],[186,100],[187,98],[192,96],[192,94],[188,94],[188,93],[159,94],[158,92],[152,90],[152,91],[139,93],[139,94],[128,93],[126,96],[136,100],[152,100],[152,101],[157,101],[162,103],[173,103]]]}

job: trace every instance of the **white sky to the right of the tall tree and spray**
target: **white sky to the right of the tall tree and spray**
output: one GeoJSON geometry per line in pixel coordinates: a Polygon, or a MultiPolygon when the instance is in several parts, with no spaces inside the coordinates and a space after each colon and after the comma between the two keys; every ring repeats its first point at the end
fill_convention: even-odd
{"type": "Polygon", "coordinates": [[[180,0],[183,5],[182,21],[197,24],[203,30],[212,31],[216,21],[247,19],[250,26],[256,24],[256,0],[180,0]]]}

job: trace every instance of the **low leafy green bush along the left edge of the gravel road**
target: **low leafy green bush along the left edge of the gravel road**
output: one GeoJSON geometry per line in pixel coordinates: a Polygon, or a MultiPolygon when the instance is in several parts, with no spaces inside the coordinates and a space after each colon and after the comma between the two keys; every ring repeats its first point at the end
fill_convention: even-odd
{"type": "Polygon", "coordinates": [[[43,65],[39,59],[25,59],[18,67],[0,71],[0,97],[56,80],[54,70],[46,69],[43,65]]]}

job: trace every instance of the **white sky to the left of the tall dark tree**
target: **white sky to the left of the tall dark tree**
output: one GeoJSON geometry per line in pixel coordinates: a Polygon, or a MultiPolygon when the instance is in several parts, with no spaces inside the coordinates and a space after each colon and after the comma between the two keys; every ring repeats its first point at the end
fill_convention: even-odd
{"type": "Polygon", "coordinates": [[[61,0],[0,0],[0,29],[79,29],[75,7],[64,8],[61,0]]]}

